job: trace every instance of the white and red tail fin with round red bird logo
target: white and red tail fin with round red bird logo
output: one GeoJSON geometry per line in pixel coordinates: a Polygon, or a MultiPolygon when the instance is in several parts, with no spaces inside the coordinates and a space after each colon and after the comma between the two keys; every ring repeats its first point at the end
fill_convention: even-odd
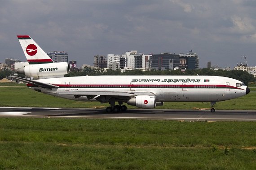
{"type": "Polygon", "coordinates": [[[17,37],[29,64],[53,63],[53,60],[29,35],[17,35],[17,37]]]}

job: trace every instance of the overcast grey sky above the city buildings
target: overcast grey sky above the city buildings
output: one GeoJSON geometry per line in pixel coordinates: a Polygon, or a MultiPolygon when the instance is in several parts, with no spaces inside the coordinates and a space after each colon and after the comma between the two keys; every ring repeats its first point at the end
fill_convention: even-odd
{"type": "Polygon", "coordinates": [[[93,65],[94,55],[199,54],[234,68],[256,66],[256,0],[0,0],[0,63],[26,61],[17,35],[93,65]]]}

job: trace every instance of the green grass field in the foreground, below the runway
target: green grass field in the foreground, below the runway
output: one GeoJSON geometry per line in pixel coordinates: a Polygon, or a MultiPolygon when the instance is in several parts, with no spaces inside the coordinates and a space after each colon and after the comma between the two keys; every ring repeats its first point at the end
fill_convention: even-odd
{"type": "Polygon", "coordinates": [[[255,125],[0,118],[0,170],[255,170],[255,125]]]}

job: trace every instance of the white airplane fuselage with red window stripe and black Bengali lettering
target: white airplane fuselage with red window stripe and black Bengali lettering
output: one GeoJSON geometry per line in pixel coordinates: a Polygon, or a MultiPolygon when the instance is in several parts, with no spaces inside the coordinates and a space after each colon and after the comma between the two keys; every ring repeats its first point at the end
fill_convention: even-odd
{"type": "Polygon", "coordinates": [[[243,82],[221,76],[77,76],[37,81],[59,86],[40,88],[43,93],[81,101],[94,101],[87,97],[90,95],[127,93],[154,95],[157,102],[212,102],[238,98],[247,92],[243,82]]]}

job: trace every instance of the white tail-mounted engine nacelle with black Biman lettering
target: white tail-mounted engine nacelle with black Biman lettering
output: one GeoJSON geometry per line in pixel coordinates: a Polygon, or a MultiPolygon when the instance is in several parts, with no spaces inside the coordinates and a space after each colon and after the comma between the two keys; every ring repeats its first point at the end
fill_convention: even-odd
{"type": "Polygon", "coordinates": [[[24,64],[22,68],[15,69],[20,74],[38,78],[65,75],[69,73],[69,70],[68,63],[24,64]]]}

